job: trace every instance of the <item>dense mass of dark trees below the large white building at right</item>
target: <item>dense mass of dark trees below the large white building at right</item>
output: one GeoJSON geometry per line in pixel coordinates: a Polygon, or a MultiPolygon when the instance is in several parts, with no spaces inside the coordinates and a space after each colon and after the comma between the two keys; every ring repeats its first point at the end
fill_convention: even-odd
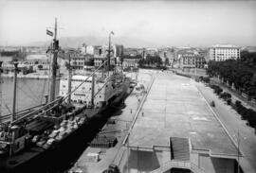
{"type": "Polygon", "coordinates": [[[256,53],[241,52],[241,59],[237,61],[210,61],[207,74],[223,78],[236,90],[256,97],[256,53]]]}

